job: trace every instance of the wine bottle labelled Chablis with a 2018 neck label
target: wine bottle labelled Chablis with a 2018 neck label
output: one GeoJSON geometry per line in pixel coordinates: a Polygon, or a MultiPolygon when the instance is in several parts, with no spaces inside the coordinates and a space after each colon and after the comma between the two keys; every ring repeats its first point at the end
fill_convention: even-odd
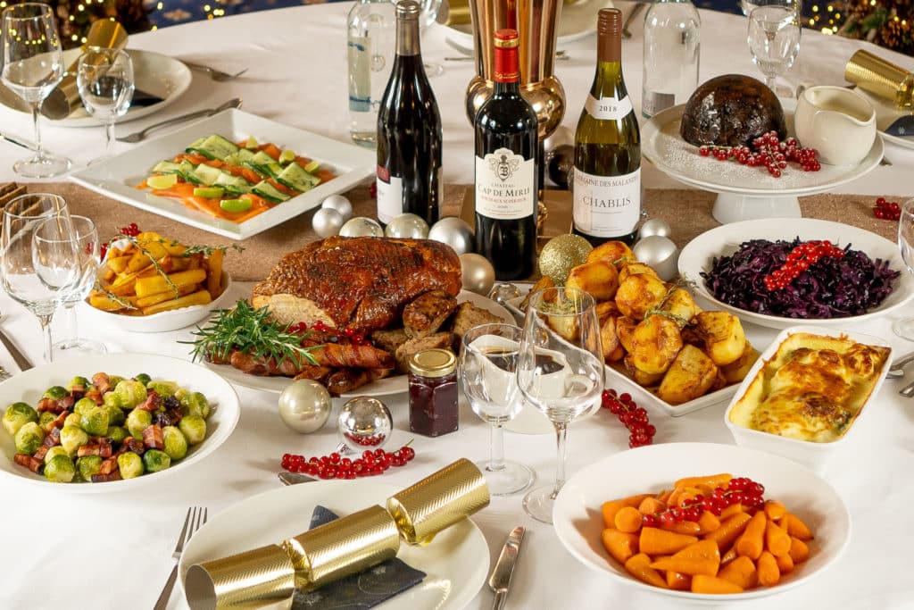
{"type": "Polygon", "coordinates": [[[622,79],[622,13],[601,8],[597,73],[574,145],[574,232],[634,242],[641,218],[641,132],[622,79]]]}

